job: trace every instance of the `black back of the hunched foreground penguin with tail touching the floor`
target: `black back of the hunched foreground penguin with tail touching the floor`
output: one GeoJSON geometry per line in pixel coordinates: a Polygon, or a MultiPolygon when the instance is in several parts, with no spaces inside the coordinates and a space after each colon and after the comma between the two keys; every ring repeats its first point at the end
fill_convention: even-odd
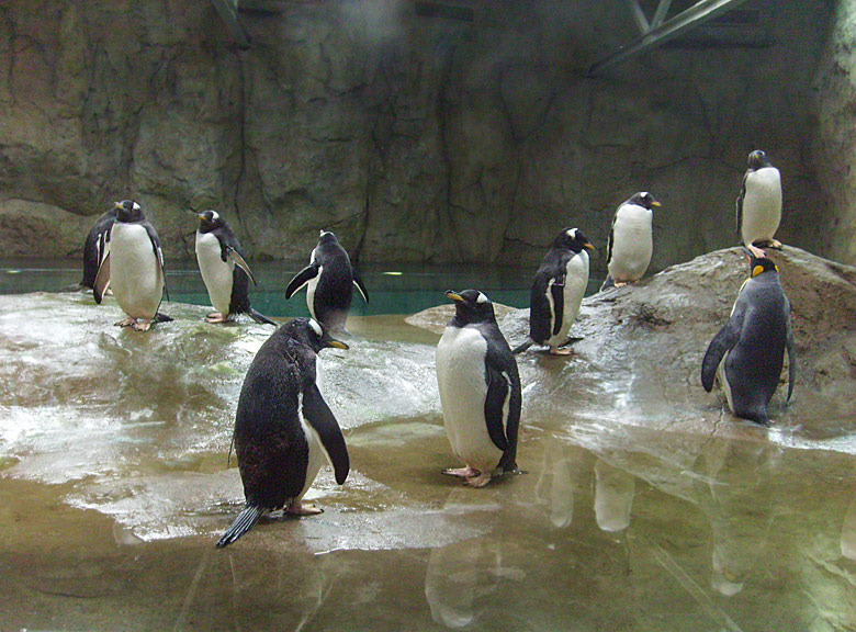
{"type": "Polygon", "coordinates": [[[235,451],[247,505],[279,509],[306,482],[308,443],[299,394],[315,382],[315,352],[286,327],[261,346],[247,371],[235,418],[235,451]]]}

